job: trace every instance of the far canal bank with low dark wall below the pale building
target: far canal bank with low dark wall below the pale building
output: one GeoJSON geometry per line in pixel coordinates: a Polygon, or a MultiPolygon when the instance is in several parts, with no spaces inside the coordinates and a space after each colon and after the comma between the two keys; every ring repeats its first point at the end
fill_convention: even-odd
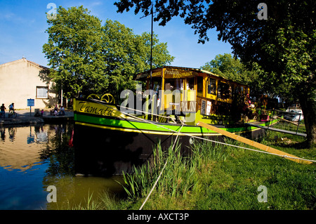
{"type": "Polygon", "coordinates": [[[15,110],[18,115],[16,118],[8,118],[8,112],[6,111],[6,117],[0,118],[0,126],[49,124],[72,121],[74,119],[74,112],[72,110],[65,110],[65,115],[62,116],[51,115],[51,110],[44,110],[43,117],[35,117],[34,110],[31,110],[31,112],[29,110],[15,110]]]}

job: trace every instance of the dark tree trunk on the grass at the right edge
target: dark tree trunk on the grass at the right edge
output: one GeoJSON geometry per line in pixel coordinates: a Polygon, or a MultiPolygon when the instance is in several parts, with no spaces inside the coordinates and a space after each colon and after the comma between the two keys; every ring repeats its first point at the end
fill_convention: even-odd
{"type": "Polygon", "coordinates": [[[308,99],[301,95],[300,104],[302,107],[305,128],[307,132],[308,147],[316,146],[316,100],[308,99]]]}

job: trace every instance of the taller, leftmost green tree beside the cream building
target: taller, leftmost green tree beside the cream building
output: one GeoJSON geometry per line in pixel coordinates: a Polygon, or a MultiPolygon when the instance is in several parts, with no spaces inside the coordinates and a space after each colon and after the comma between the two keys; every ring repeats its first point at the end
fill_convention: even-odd
{"type": "Polygon", "coordinates": [[[51,66],[50,76],[67,98],[107,87],[102,54],[101,21],[86,8],[61,6],[55,19],[47,20],[48,43],[43,52],[51,66]]]}

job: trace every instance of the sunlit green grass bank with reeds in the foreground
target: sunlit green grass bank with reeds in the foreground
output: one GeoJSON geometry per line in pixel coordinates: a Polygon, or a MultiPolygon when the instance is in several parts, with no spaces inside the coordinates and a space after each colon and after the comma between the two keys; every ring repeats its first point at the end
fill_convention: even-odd
{"type": "MultiPolygon", "coordinates": [[[[315,148],[306,148],[304,140],[272,131],[258,139],[278,150],[315,159],[315,148]]],[[[249,147],[231,139],[225,142],[249,147]]],[[[126,198],[104,194],[93,209],[139,209],[165,164],[143,209],[315,209],[315,164],[210,142],[195,143],[186,157],[180,156],[179,145],[164,152],[157,145],[153,158],[150,166],[124,174],[126,198]],[[262,202],[260,186],[265,187],[268,202],[262,202]]]]}

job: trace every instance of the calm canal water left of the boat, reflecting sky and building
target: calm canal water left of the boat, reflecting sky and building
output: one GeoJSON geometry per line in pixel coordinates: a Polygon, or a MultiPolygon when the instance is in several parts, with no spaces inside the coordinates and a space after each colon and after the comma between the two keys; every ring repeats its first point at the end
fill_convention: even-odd
{"type": "Polygon", "coordinates": [[[0,210],[71,209],[105,191],[122,192],[120,176],[75,175],[72,130],[72,124],[0,127],[0,210]]]}

